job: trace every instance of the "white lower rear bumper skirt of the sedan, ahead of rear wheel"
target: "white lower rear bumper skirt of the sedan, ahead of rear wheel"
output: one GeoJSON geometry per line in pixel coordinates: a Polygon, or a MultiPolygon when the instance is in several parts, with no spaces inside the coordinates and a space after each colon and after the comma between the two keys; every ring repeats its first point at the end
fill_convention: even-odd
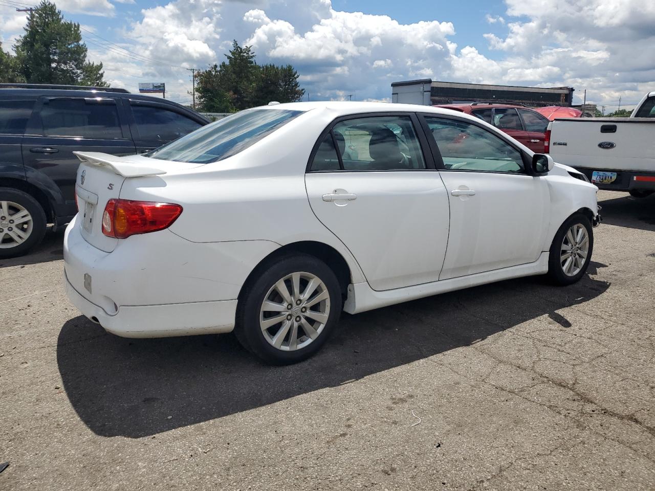
{"type": "MultiPolygon", "coordinates": [[[[65,272],[64,272],[65,276],[65,272]]],[[[122,306],[113,315],[85,299],[65,277],[66,295],[77,309],[105,331],[126,338],[159,338],[229,333],[236,300],[185,304],[122,306]]]]}

